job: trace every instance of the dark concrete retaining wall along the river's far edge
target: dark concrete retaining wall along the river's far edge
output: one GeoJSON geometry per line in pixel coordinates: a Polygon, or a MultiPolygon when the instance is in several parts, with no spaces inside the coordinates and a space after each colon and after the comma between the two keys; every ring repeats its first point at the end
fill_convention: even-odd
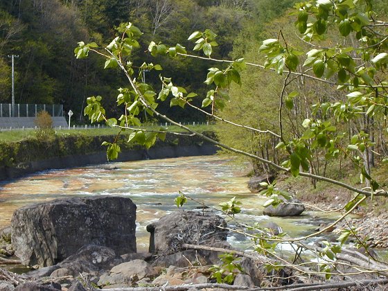
{"type": "MultiPolygon", "coordinates": [[[[215,145],[181,145],[160,146],[150,150],[127,150],[121,152],[116,161],[139,161],[141,159],[164,159],[172,157],[191,157],[200,155],[214,155],[218,148],[215,145]]],[[[17,167],[0,167],[0,181],[15,179],[24,175],[42,170],[73,168],[88,164],[107,163],[106,152],[97,152],[90,155],[73,155],[55,157],[42,161],[30,161],[17,167]]]]}

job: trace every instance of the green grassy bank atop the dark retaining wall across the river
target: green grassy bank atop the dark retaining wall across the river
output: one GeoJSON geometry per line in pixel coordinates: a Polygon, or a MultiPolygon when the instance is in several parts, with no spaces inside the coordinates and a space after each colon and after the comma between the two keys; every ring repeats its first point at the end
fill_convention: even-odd
{"type": "MultiPolygon", "coordinates": [[[[156,128],[155,128],[156,129],[156,128]]],[[[193,129],[213,135],[211,126],[198,125],[193,129]]],[[[180,130],[180,128],[169,128],[180,130]]],[[[96,130],[57,130],[46,134],[37,134],[35,130],[0,132],[0,166],[15,167],[30,161],[40,161],[52,157],[69,155],[88,155],[105,151],[103,141],[113,142],[118,133],[114,128],[96,130]]],[[[124,132],[118,139],[121,150],[140,148],[136,143],[127,143],[130,132],[124,132]]],[[[194,136],[176,136],[167,134],[161,145],[197,145],[203,141],[194,136]]]]}

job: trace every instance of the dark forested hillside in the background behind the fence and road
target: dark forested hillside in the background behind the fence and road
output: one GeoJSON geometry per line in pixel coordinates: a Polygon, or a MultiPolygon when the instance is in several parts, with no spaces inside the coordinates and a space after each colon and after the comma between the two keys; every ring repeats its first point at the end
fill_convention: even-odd
{"type": "MultiPolygon", "coordinates": [[[[114,113],[117,87],[123,77],[100,71],[98,58],[77,61],[73,49],[81,40],[107,44],[114,28],[131,21],[145,37],[134,60],[159,62],[180,85],[206,94],[203,79],[206,64],[200,60],[155,60],[147,53],[150,41],[189,46],[194,30],[210,28],[219,44],[215,56],[241,55],[247,39],[258,41],[265,21],[292,6],[292,0],[1,0],[0,1],[0,102],[10,103],[11,64],[15,59],[15,103],[63,104],[82,118],[88,96],[105,97],[114,113]],[[182,73],[187,72],[187,73],[182,73]],[[179,73],[178,73],[179,72],[179,73]]],[[[141,64],[134,64],[134,67],[141,64]]],[[[145,78],[157,84],[157,73],[145,78]]],[[[162,112],[181,121],[200,121],[195,111],[183,112],[168,106],[162,112]]]]}

